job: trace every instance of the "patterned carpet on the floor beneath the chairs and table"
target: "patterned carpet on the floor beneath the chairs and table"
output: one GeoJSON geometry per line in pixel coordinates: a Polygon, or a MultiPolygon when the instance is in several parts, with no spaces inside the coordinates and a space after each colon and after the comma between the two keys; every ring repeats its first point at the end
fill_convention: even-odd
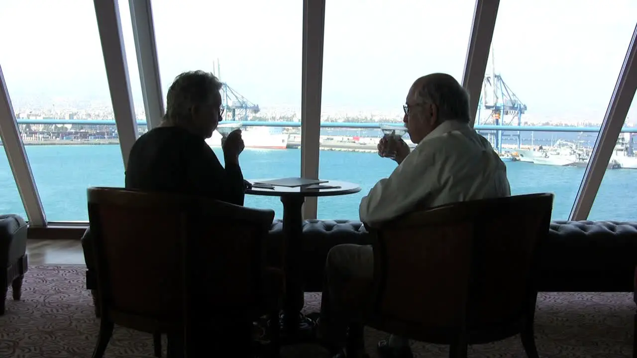
{"type": "MultiPolygon", "coordinates": [[[[84,266],[36,266],[25,276],[22,301],[8,301],[0,317],[0,357],[90,357],[97,337],[84,266]]],[[[10,296],[10,294],[9,294],[10,296]]],[[[630,357],[633,295],[541,294],[536,341],[541,357],[630,357]]],[[[320,294],[306,295],[306,311],[318,311],[320,294]]],[[[368,329],[368,352],[384,333],[368,329]]],[[[165,346],[164,346],[165,347],[165,346]]],[[[414,343],[417,357],[447,357],[448,348],[414,343]]],[[[326,357],[320,348],[283,348],[283,357],[326,357]]],[[[106,357],[152,357],[149,334],[116,327],[106,357]]],[[[519,338],[469,348],[469,357],[526,357],[519,338]]]]}

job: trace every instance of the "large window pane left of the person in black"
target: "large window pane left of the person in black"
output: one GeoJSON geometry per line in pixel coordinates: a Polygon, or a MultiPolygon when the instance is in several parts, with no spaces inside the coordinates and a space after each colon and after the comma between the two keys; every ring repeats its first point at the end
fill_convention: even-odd
{"type": "Polygon", "coordinates": [[[113,120],[93,3],[5,1],[0,33],[18,123],[51,120],[19,125],[47,220],[88,220],[87,187],[124,184],[114,126],[59,124],[113,120]]]}

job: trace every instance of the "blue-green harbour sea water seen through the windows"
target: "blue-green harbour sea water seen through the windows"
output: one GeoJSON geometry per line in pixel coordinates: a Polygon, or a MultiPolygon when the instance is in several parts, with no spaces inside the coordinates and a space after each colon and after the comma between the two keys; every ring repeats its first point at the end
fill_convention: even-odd
{"type": "MultiPolygon", "coordinates": [[[[88,220],[87,187],[124,185],[124,164],[118,145],[30,145],[26,151],[49,221],[88,220]]],[[[218,150],[215,152],[222,158],[218,150]]],[[[525,162],[507,162],[506,165],[512,194],[553,192],[553,218],[568,218],[585,168],[525,162]]],[[[247,149],[241,154],[241,168],[247,179],[299,176],[300,166],[301,151],[298,149],[247,149]]],[[[348,196],[319,198],[318,218],[357,218],[361,197],[379,179],[389,176],[394,168],[394,162],[376,154],[320,152],[320,178],[357,183],[362,190],[348,196]]],[[[0,155],[0,190],[0,213],[25,215],[4,154],[0,155]]],[[[637,170],[606,171],[589,218],[637,220],[636,190],[637,170]]],[[[245,204],[271,208],[276,211],[276,217],[283,215],[282,204],[276,197],[247,196],[245,204]]]]}

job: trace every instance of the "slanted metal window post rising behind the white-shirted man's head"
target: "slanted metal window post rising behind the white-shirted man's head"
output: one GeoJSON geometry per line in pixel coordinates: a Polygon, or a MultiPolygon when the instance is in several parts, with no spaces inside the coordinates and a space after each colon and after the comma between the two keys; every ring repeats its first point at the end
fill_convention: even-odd
{"type": "Polygon", "coordinates": [[[467,48],[467,57],[462,74],[462,86],[469,92],[469,113],[471,126],[475,124],[475,115],[480,105],[480,92],[484,73],[489,61],[489,49],[496,28],[499,0],[476,0],[473,11],[471,37],[467,48]]]}

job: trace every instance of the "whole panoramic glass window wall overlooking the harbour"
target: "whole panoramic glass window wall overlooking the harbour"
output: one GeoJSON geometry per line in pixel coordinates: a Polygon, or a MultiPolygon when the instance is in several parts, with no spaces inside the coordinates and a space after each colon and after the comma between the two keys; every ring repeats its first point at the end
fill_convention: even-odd
{"type": "MultiPolygon", "coordinates": [[[[120,0],[120,19],[134,109],[145,120],[129,1],[120,0]]],[[[152,6],[164,97],[183,71],[215,73],[224,83],[224,120],[243,124],[245,178],[298,176],[303,1],[152,6]]],[[[318,218],[357,218],[361,197],[396,167],[375,154],[382,132],[370,124],[401,123],[406,93],[422,75],[462,79],[475,0],[329,0],[326,6],[321,120],[347,125],[321,130],[319,176],[362,190],[318,199],[318,218]]],[[[631,0],[499,5],[476,129],[506,161],[512,194],[555,193],[554,219],[568,218],[573,207],[635,22],[631,0]]],[[[0,33],[0,63],[47,220],[87,220],[87,187],[124,185],[94,4],[5,1],[0,33]]],[[[635,117],[633,106],[626,127],[635,117]]],[[[626,200],[637,173],[627,169],[633,141],[632,134],[618,139],[590,218],[637,214],[626,200]]],[[[220,134],[209,144],[223,160],[220,134]]],[[[24,215],[3,154],[0,169],[0,210],[24,215]]],[[[278,197],[247,196],[245,204],[282,216],[278,197]]]]}

